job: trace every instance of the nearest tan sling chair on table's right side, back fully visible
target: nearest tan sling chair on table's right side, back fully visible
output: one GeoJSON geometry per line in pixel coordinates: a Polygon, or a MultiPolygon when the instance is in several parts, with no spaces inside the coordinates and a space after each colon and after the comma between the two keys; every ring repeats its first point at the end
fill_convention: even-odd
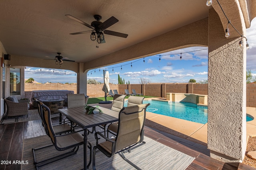
{"type": "MultiPolygon", "coordinates": [[[[136,106],[124,107],[119,112],[118,118],[118,131],[116,134],[116,138],[109,139],[104,136],[102,133],[96,132],[94,137],[96,139],[96,146],[93,147],[93,155],[92,155],[92,168],[95,170],[95,155],[96,149],[100,150],[108,157],[114,156],[116,153],[120,153],[122,158],[134,166],[136,169],[138,168],[135,164],[130,162],[124,156],[124,151],[134,147],[137,144],[144,144],[144,123],[146,118],[146,107],[150,104],[140,104],[136,106]],[[102,143],[98,143],[99,137],[104,138],[106,141],[102,143]]],[[[136,146],[138,147],[138,146],[136,146]]]]}

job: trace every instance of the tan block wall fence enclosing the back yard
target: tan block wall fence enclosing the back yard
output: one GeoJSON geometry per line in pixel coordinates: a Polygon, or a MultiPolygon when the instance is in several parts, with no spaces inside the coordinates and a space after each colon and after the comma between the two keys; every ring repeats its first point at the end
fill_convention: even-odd
{"type": "MultiPolygon", "coordinates": [[[[166,93],[191,93],[208,95],[208,84],[196,83],[175,83],[175,84],[109,84],[110,89],[118,90],[119,94],[124,94],[128,89],[132,93],[135,89],[137,93],[145,96],[156,96],[166,98],[166,93]]],[[[87,95],[90,97],[104,97],[102,91],[103,84],[87,84],[87,95]]],[[[76,94],[76,84],[36,84],[25,83],[25,98],[31,97],[33,90],[73,90],[76,94]]],[[[256,83],[246,84],[246,106],[256,107],[256,83]]]]}

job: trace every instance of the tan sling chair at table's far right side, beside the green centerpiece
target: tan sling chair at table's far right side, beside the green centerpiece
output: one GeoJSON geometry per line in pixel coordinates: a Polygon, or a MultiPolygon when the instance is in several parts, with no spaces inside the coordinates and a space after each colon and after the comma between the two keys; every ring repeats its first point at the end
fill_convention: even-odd
{"type": "MultiPolygon", "coordinates": [[[[111,110],[119,112],[124,107],[124,98],[125,98],[125,95],[115,94],[113,98],[113,104],[112,104],[111,110]]],[[[107,125],[108,124],[99,125],[100,128],[104,129],[105,136],[106,136],[107,125]]]]}

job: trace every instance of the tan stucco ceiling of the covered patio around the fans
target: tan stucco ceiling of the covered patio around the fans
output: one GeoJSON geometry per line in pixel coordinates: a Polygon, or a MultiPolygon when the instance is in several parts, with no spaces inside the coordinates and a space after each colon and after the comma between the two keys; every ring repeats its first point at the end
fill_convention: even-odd
{"type": "MultiPolygon", "coordinates": [[[[0,4],[0,41],[6,53],[16,56],[55,58],[57,52],[76,63],[86,63],[131,47],[189,23],[208,17],[206,0],[3,0],[0,4]],[[105,34],[106,43],[90,39],[94,15],[102,22],[111,16],[119,21],[108,30],[127,38],[105,34]]],[[[48,61],[52,62],[52,61],[48,61]]]]}

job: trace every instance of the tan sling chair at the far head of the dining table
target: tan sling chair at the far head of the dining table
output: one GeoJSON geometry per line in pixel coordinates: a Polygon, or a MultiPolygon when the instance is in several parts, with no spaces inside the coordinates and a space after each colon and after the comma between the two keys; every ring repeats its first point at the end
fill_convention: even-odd
{"type": "Polygon", "coordinates": [[[87,104],[89,96],[82,94],[67,94],[68,95],[68,108],[84,107],[87,104]]]}

